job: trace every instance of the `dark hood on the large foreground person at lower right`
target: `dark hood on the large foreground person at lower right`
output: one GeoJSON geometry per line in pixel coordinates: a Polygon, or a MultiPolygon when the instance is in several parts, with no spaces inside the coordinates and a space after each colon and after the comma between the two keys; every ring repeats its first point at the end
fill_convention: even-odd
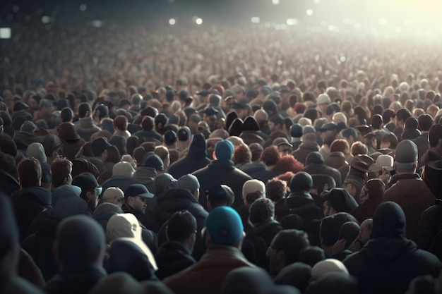
{"type": "Polygon", "coordinates": [[[405,214],[398,204],[388,201],[376,208],[371,238],[405,239],[405,214]]]}

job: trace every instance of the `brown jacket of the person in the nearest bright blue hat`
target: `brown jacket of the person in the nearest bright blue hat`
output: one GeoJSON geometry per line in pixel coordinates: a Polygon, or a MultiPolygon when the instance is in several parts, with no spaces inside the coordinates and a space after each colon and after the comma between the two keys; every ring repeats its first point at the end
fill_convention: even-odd
{"type": "Polygon", "coordinates": [[[176,294],[220,293],[225,276],[239,267],[256,267],[236,247],[216,245],[200,261],[163,282],[176,294]]]}

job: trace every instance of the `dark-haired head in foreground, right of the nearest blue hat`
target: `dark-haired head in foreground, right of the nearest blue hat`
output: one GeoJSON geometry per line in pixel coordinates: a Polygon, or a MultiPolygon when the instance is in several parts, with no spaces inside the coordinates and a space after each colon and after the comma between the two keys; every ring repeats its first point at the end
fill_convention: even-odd
{"type": "Polygon", "coordinates": [[[309,245],[309,237],[304,231],[289,229],[277,233],[267,250],[270,274],[277,275],[288,264],[298,262],[299,252],[309,245]]]}

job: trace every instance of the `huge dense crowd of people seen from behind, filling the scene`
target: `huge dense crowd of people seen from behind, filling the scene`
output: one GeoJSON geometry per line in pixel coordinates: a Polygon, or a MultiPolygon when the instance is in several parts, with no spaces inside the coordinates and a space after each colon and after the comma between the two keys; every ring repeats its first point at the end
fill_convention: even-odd
{"type": "Polygon", "coordinates": [[[75,25],[1,44],[0,293],[441,293],[437,47],[75,25]]]}

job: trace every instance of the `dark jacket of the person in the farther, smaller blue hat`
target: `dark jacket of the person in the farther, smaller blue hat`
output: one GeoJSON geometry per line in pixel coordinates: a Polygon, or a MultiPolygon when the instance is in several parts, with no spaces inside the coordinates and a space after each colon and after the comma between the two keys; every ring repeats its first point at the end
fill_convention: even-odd
{"type": "MultiPolygon", "coordinates": [[[[209,190],[213,185],[228,185],[235,195],[235,200],[232,204],[233,208],[238,208],[243,203],[242,185],[251,180],[251,177],[235,168],[233,161],[212,161],[208,166],[203,169],[198,169],[193,173],[200,182],[200,191],[205,192],[209,190]]],[[[203,194],[203,193],[201,193],[203,194]]],[[[207,197],[201,195],[199,202],[205,209],[207,209],[207,197]]]]}

